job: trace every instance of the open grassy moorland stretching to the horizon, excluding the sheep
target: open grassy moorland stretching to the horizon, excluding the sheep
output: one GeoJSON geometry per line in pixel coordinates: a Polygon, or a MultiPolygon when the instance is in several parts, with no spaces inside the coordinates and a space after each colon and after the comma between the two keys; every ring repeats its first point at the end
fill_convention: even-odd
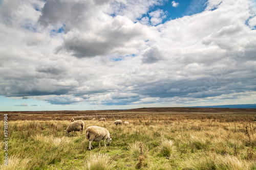
{"type": "MultiPolygon", "coordinates": [[[[256,169],[256,109],[141,108],[8,114],[8,166],[0,169],[256,169]],[[112,135],[98,147],[86,134],[67,135],[70,118],[112,135]],[[105,122],[98,119],[105,117],[105,122]],[[95,118],[96,120],[92,120],[95,118]],[[129,122],[114,125],[114,120],[129,122]]],[[[85,130],[84,130],[85,132],[85,130]]],[[[4,135],[4,128],[0,129],[4,135]]]]}

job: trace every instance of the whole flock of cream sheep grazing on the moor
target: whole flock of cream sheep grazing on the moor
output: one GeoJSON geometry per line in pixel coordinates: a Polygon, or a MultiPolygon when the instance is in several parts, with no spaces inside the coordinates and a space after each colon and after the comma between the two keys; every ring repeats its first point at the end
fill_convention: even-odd
{"type": "MultiPolygon", "coordinates": [[[[93,118],[92,120],[95,120],[95,118],[93,118]]],[[[105,121],[105,118],[100,118],[99,121],[105,121]]],[[[74,131],[80,131],[81,134],[84,130],[84,122],[82,120],[74,120],[74,118],[71,118],[71,123],[69,124],[69,126],[66,129],[66,133],[67,135],[69,135],[69,133],[74,131]]],[[[121,124],[129,124],[129,122],[122,122],[122,120],[115,120],[115,122],[113,122],[112,124],[115,125],[121,125],[121,124]]],[[[89,126],[86,129],[86,138],[89,139],[89,150],[91,150],[92,147],[92,141],[98,141],[99,142],[99,147],[100,147],[100,141],[103,140],[104,142],[104,146],[106,146],[105,144],[105,140],[107,142],[107,144],[111,143],[112,140],[112,136],[110,135],[110,132],[108,131],[108,129],[106,128],[102,128],[99,126],[89,126]]]]}

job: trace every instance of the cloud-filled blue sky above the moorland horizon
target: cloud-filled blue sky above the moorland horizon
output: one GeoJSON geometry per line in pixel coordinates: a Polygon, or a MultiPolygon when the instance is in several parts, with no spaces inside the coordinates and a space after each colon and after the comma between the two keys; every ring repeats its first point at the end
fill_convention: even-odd
{"type": "Polygon", "coordinates": [[[256,103],[252,0],[0,1],[0,111],[256,103]]]}

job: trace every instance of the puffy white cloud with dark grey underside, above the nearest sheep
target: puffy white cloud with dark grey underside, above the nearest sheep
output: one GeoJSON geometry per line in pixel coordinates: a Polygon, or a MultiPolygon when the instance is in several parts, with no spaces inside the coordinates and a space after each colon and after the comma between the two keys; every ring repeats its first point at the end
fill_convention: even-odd
{"type": "Polygon", "coordinates": [[[81,30],[70,31],[65,35],[62,46],[56,48],[56,53],[69,52],[78,58],[105,56],[110,54],[125,54],[126,49],[135,48],[130,45],[133,41],[140,44],[145,39],[145,27],[140,23],[133,23],[126,17],[117,16],[109,22],[101,23],[92,33],[81,30]],[[142,40],[138,40],[141,38],[142,40]]]}

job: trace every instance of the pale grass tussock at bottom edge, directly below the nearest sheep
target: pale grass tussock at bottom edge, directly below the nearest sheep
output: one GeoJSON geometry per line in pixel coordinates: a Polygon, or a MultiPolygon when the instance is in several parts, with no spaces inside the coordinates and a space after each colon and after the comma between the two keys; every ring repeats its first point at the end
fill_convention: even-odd
{"type": "Polygon", "coordinates": [[[86,161],[85,170],[110,170],[114,167],[113,161],[108,155],[94,154],[90,155],[86,161]]]}

